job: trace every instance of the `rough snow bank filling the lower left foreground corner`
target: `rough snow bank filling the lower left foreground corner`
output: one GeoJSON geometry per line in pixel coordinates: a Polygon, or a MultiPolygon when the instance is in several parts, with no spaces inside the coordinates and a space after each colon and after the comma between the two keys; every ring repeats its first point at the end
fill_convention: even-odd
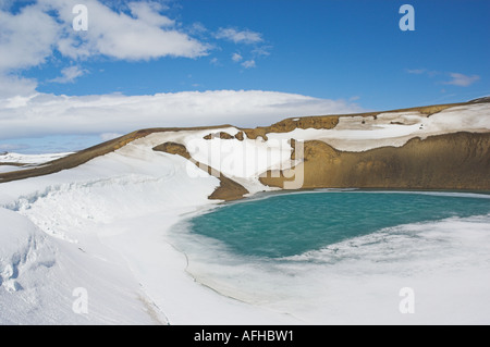
{"type": "Polygon", "coordinates": [[[117,262],[58,241],[19,213],[0,209],[0,220],[1,324],[155,323],[151,303],[117,262]],[[87,293],[86,314],[73,309],[76,289],[87,293]]]}

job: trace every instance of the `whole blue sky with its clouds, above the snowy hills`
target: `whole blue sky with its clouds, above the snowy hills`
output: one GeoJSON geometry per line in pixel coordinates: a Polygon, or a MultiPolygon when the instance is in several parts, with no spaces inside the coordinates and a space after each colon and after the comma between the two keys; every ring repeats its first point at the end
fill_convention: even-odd
{"type": "MultiPolygon", "coordinates": [[[[154,124],[155,119],[148,116],[142,123],[133,120],[111,128],[110,121],[100,123],[96,117],[90,127],[85,124],[89,123],[87,116],[82,122],[70,113],[74,104],[87,102],[93,102],[90,110],[97,112],[99,102],[95,98],[114,94],[120,98],[172,94],[171,101],[160,100],[156,107],[187,110],[182,117],[168,115],[164,122],[158,119],[155,126],[181,125],[183,117],[189,121],[182,125],[255,126],[308,112],[390,110],[466,101],[490,94],[488,0],[78,0],[74,3],[86,3],[88,9],[88,30],[77,33],[71,30],[75,15],[66,3],[70,1],[0,0],[0,20],[2,15],[8,18],[0,21],[0,28],[4,26],[0,55],[12,55],[3,63],[0,58],[0,98],[2,92],[10,100],[37,94],[36,98],[12,101],[10,109],[1,110],[0,123],[5,131],[0,132],[0,149],[2,144],[4,148],[21,144],[23,137],[73,135],[96,141],[94,136],[100,134],[122,134],[134,129],[131,127],[154,124]],[[404,3],[415,9],[414,32],[399,27],[403,16],[399,9],[404,3]],[[26,40],[14,41],[12,32],[19,24],[35,22],[42,15],[53,22],[39,21],[32,28],[33,35],[27,25],[25,32],[17,33],[26,40]],[[122,36],[131,29],[142,36],[122,36]],[[9,36],[10,46],[2,47],[9,36]],[[20,58],[14,59],[14,54],[20,58]],[[192,112],[206,110],[188,110],[188,104],[183,104],[187,100],[219,114],[217,104],[223,95],[210,91],[220,90],[273,95],[260,100],[257,92],[226,96],[234,98],[226,102],[244,108],[236,114],[229,112],[228,119],[224,111],[222,116],[196,119],[192,112]],[[200,94],[182,94],[188,91],[200,94]],[[60,99],[62,96],[82,98],[66,101],[60,99]],[[275,98],[280,98],[280,107],[275,98]],[[36,114],[35,121],[42,122],[42,112],[52,112],[47,104],[53,104],[53,100],[61,104],[56,109],[60,117],[53,122],[65,126],[30,129],[27,125],[35,123],[32,116],[25,120],[25,135],[15,132],[13,127],[23,123],[11,121],[21,111],[36,114]],[[247,110],[247,104],[260,107],[247,110]],[[275,112],[264,111],[274,107],[275,112]],[[74,131],[79,122],[83,129],[74,131]]],[[[131,117],[121,111],[125,100],[118,99],[117,110],[131,117]]],[[[131,100],[139,102],[137,98],[131,100]]],[[[110,107],[113,104],[105,103],[102,108],[107,111],[110,107]]],[[[76,110],[73,113],[83,117],[79,108],[76,110]]],[[[76,146],[81,146],[79,141],[76,146]]]]}

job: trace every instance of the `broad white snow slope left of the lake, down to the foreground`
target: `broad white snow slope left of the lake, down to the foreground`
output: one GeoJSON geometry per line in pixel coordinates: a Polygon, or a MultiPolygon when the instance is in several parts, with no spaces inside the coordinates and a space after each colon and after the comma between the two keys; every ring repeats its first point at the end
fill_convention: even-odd
{"type": "Polygon", "coordinates": [[[179,156],[152,151],[152,145],[172,140],[172,135],[140,139],[70,171],[0,186],[0,206],[8,213],[8,219],[1,215],[2,225],[9,225],[0,227],[0,237],[8,238],[10,247],[5,257],[2,253],[2,273],[9,273],[3,269],[12,263],[4,259],[20,248],[10,239],[17,230],[26,231],[19,234],[24,244],[28,244],[29,232],[42,237],[53,264],[41,271],[40,259],[33,257],[28,268],[36,271],[23,271],[23,289],[14,296],[7,290],[9,278],[4,281],[0,322],[296,322],[283,313],[217,295],[186,273],[185,255],[173,248],[167,233],[183,215],[217,203],[207,196],[219,179],[199,176],[199,169],[179,156]],[[11,223],[11,219],[25,224],[11,223]],[[72,293],[77,287],[87,289],[86,315],[72,311],[76,299],[72,293]],[[25,301],[25,296],[33,299],[25,301]],[[32,313],[34,308],[38,313],[32,313]]]}

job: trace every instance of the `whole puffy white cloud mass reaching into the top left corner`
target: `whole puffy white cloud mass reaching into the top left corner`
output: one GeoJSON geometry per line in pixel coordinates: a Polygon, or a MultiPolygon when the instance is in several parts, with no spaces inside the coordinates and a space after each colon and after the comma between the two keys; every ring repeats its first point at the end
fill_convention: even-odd
{"type": "Polygon", "coordinates": [[[53,50],[71,59],[106,55],[134,61],[196,58],[209,49],[162,15],[164,7],[157,2],[131,2],[130,15],[114,12],[101,1],[84,0],[88,30],[75,32],[72,9],[77,3],[79,0],[37,0],[17,14],[0,7],[0,72],[42,64],[53,50]]]}

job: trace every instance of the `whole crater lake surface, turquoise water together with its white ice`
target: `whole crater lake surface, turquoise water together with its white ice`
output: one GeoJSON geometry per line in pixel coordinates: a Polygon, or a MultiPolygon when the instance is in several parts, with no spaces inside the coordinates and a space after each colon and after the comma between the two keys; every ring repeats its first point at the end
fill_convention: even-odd
{"type": "Polygon", "coordinates": [[[409,287],[414,323],[490,322],[490,195],[274,194],[191,218],[172,238],[197,282],[299,320],[409,323],[409,287]]]}

